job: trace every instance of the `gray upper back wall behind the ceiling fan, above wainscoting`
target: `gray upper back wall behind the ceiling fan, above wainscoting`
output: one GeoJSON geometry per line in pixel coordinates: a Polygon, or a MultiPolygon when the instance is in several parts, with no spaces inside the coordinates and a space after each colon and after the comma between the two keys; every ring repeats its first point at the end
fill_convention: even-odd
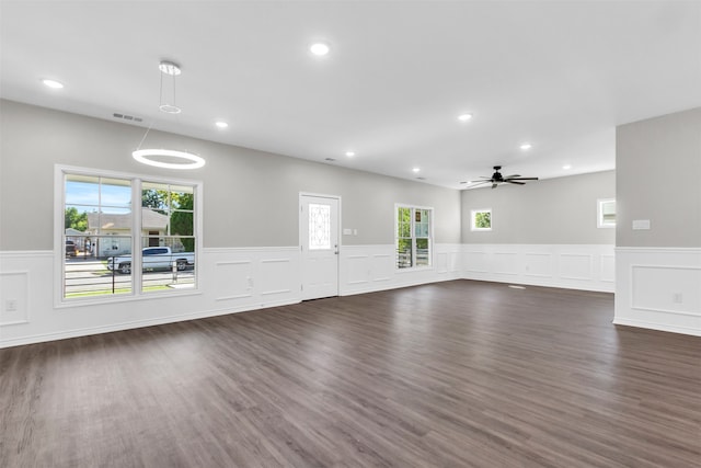
{"type": "Polygon", "coordinates": [[[463,243],[613,244],[597,228],[597,199],[616,196],[614,171],[462,192],[463,243]],[[471,231],[470,212],[492,208],[492,230],[471,231]]]}

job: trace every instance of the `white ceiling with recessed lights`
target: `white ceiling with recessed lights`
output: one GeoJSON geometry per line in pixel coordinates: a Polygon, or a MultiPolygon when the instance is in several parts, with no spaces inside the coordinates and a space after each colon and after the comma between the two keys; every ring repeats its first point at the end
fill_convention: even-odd
{"type": "Polygon", "coordinates": [[[497,163],[613,169],[617,125],[701,105],[694,1],[3,0],[0,14],[4,99],[456,189],[497,163]],[[158,110],[162,59],[183,70],[177,117],[158,110]]]}

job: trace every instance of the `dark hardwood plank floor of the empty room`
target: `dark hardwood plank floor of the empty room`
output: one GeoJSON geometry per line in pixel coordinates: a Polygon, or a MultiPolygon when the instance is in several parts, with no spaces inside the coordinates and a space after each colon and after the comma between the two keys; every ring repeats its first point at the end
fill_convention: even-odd
{"type": "Polygon", "coordinates": [[[0,467],[699,467],[701,339],[456,281],[0,350],[0,467]]]}

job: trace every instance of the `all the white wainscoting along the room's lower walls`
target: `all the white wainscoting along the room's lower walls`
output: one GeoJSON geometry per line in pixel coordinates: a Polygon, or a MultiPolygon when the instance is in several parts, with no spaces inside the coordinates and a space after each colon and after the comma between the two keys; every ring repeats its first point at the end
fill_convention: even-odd
{"type": "MultiPolygon", "coordinates": [[[[393,244],[342,246],[340,255],[340,295],[456,278],[617,286],[616,323],[701,334],[701,249],[622,249],[614,256],[613,246],[437,243],[433,265],[413,270],[395,267],[393,244]]],[[[60,307],[54,262],[51,251],[0,252],[0,306],[18,296],[18,310],[0,316],[0,347],[301,300],[298,247],[203,249],[196,292],[60,307]]]]}

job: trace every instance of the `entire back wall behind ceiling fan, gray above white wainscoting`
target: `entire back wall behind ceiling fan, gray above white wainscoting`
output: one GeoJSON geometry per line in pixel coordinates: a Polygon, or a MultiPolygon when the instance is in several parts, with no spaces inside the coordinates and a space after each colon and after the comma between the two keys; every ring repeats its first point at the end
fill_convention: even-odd
{"type": "Polygon", "coordinates": [[[614,171],[463,191],[463,277],[612,293],[616,231],[597,228],[597,201],[614,194],[614,171]],[[472,231],[485,208],[492,230],[472,231]]]}

